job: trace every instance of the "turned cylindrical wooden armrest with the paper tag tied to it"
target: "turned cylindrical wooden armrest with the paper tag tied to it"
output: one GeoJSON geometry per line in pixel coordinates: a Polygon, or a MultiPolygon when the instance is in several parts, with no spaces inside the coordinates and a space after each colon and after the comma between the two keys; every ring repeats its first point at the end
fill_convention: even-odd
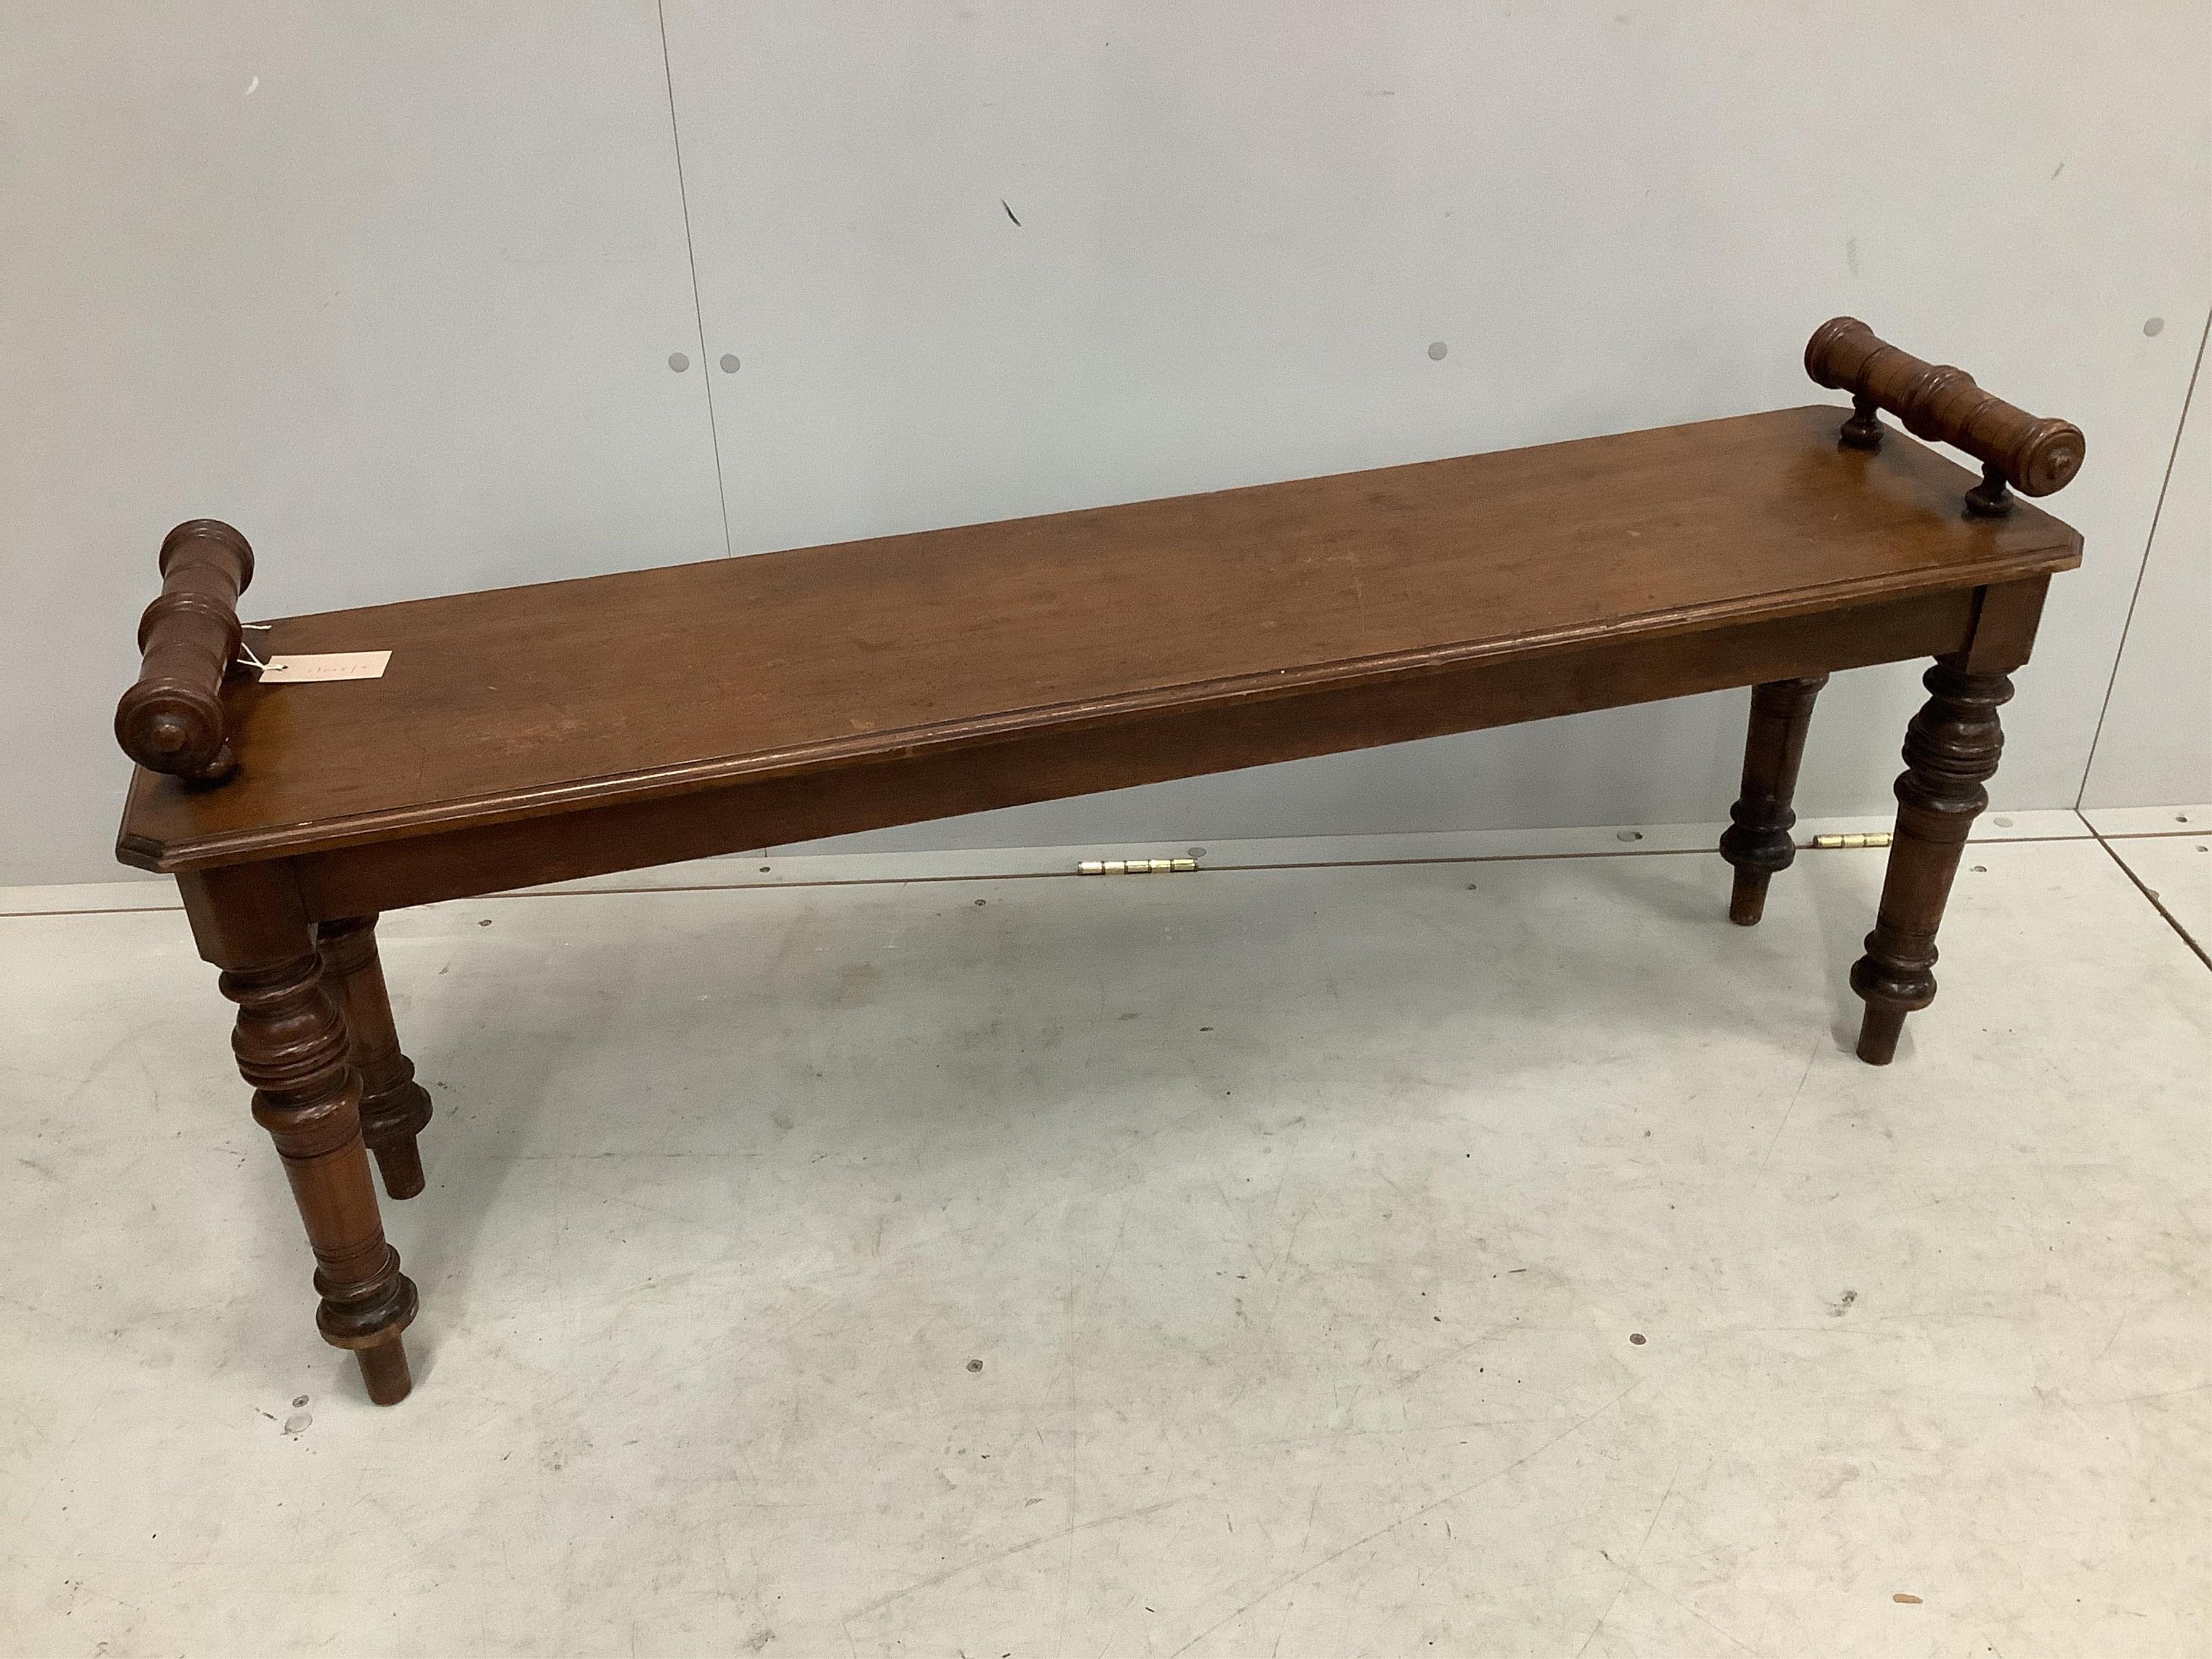
{"type": "Polygon", "coordinates": [[[239,655],[239,595],[252,580],[254,551],[228,524],[195,518],[161,540],[161,597],[139,617],[139,677],[115,706],[115,741],[139,765],[228,776],[221,692],[239,655]]]}

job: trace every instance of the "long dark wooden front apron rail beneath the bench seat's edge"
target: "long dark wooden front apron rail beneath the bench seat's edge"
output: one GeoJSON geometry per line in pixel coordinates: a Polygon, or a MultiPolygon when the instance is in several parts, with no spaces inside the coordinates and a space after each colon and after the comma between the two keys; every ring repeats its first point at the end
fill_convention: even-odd
{"type": "MultiPolygon", "coordinates": [[[[1995,588],[1989,588],[1995,591],[1995,588]]],[[[991,743],[905,748],[688,794],[487,818],[283,860],[316,918],[405,909],[816,836],[1057,801],[1133,783],[1686,697],[1964,648],[1975,588],[1701,633],[1619,635],[1546,655],[1312,686],[1228,703],[1055,721],[991,743]]]]}

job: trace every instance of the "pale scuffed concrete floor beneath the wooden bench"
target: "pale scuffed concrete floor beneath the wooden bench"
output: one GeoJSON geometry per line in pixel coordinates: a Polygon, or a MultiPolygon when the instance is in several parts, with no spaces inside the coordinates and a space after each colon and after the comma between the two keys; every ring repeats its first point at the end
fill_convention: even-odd
{"type": "Polygon", "coordinates": [[[4,918],[0,1650],[2201,1655],[2212,856],[2051,816],[1889,1071],[1880,854],[392,916],[394,1411],[181,916],[4,918]]]}

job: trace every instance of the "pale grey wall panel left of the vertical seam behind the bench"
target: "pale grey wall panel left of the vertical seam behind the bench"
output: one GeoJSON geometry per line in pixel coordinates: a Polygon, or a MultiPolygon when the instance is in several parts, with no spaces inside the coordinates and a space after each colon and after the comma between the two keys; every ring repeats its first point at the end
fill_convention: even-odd
{"type": "Polygon", "coordinates": [[[650,4],[9,4],[0,122],[0,880],[124,874],[181,518],[250,615],[723,553],[650,4]]]}

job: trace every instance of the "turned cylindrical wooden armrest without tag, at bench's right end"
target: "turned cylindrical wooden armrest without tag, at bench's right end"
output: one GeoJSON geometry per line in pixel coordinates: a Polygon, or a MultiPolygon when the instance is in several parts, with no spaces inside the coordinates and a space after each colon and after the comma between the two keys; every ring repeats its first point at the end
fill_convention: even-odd
{"type": "Polygon", "coordinates": [[[1922,363],[1911,352],[1885,345],[1856,316],[1836,316],[1814,330],[1805,345],[1805,374],[1825,387],[1849,392],[1869,422],[1869,409],[1887,409],[1916,438],[1958,445],[2004,473],[2022,495],[2048,495],[2081,471],[2077,425],[2037,420],[1982,392],[1964,369],[1922,363]]]}

